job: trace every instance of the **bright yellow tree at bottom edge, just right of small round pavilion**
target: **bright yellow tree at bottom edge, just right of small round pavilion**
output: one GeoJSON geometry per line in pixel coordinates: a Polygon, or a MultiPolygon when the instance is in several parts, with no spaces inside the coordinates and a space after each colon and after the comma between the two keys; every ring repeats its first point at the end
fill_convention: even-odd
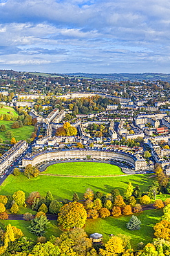
{"type": "Polygon", "coordinates": [[[105,244],[105,250],[99,249],[99,254],[102,256],[116,256],[119,253],[123,253],[123,240],[120,237],[113,236],[105,244]]]}

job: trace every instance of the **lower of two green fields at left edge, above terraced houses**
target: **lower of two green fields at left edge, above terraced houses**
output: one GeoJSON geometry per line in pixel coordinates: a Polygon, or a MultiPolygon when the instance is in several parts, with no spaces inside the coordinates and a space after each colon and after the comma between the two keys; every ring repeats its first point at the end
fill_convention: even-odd
{"type": "MultiPolygon", "coordinates": [[[[16,140],[26,140],[27,138],[31,137],[32,132],[34,131],[34,126],[33,125],[24,125],[23,127],[17,128],[17,129],[12,129],[11,125],[13,124],[14,121],[0,121],[0,126],[1,125],[6,125],[6,131],[11,130],[14,134],[14,138],[16,140]]],[[[6,131],[0,131],[0,138],[3,139],[3,141],[8,140],[6,138],[5,134],[6,131]]]]}

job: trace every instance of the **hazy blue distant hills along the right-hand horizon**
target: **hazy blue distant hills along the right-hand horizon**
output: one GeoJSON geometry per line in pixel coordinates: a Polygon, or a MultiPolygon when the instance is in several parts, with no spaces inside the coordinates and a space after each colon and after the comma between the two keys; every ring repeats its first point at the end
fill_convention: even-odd
{"type": "Polygon", "coordinates": [[[94,79],[114,80],[114,81],[167,81],[170,82],[170,74],[163,73],[112,73],[112,74],[97,74],[97,73],[67,73],[65,75],[76,77],[89,77],[94,79]]]}

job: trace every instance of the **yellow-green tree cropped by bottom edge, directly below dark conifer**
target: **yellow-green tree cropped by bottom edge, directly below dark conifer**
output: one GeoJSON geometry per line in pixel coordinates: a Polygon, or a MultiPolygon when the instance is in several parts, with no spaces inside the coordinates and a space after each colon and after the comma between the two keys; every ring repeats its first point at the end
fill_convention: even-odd
{"type": "Polygon", "coordinates": [[[55,246],[50,241],[47,241],[45,244],[38,243],[34,246],[31,251],[33,256],[58,256],[60,255],[59,246],[55,246]]]}

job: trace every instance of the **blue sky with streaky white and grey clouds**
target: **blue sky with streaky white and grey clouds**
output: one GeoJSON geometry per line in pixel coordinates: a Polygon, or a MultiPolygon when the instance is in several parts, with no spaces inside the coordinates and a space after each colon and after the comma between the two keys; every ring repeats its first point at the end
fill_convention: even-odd
{"type": "Polygon", "coordinates": [[[0,0],[0,69],[170,73],[170,0],[0,0]]]}

